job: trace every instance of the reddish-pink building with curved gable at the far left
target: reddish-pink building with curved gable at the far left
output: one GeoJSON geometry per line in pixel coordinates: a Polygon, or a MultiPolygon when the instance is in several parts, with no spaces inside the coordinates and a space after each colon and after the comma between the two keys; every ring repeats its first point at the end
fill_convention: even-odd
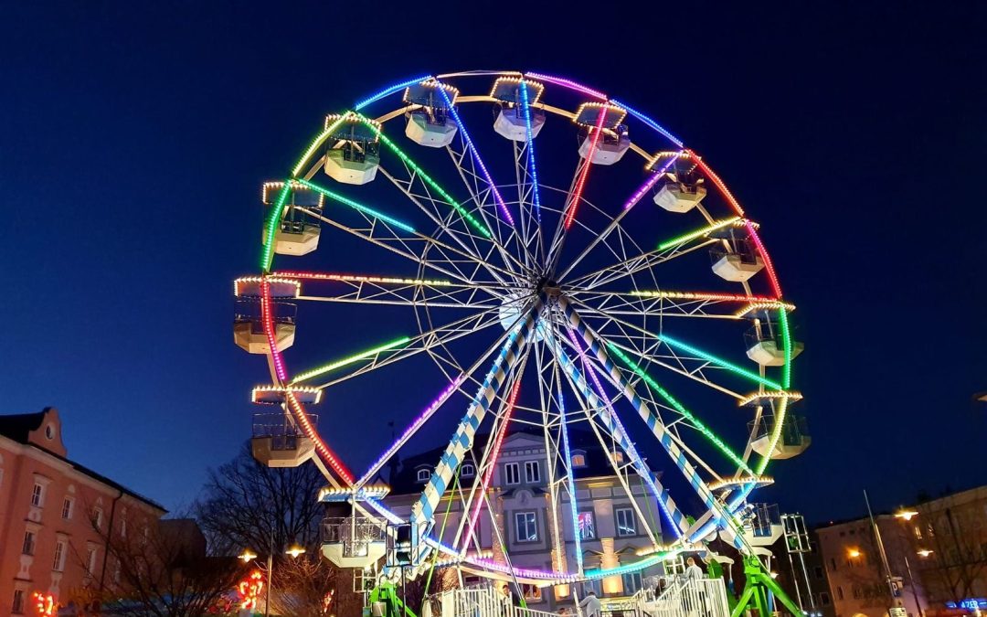
{"type": "Polygon", "coordinates": [[[164,514],[69,460],[54,408],[0,416],[0,615],[33,611],[35,592],[67,604],[103,589],[117,576],[106,559],[111,530],[140,533],[164,514]]]}

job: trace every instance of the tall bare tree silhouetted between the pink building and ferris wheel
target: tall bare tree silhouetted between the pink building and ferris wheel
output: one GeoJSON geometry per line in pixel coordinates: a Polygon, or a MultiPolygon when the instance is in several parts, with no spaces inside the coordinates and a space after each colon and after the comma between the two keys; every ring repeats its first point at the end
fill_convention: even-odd
{"type": "Polygon", "coordinates": [[[237,555],[248,547],[266,554],[272,545],[279,557],[294,542],[313,551],[323,486],[325,479],[312,463],[272,469],[254,459],[248,443],[232,461],[209,471],[192,511],[214,555],[237,555]]]}

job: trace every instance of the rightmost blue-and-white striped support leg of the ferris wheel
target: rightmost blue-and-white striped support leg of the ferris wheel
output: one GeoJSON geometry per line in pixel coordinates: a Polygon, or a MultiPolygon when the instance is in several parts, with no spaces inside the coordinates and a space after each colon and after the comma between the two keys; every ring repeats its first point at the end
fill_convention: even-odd
{"type": "MultiPolygon", "coordinates": [[[[631,382],[610,359],[606,344],[600,341],[595,333],[589,330],[589,328],[587,328],[586,325],[579,319],[579,316],[574,310],[572,310],[572,307],[569,305],[569,302],[565,297],[560,297],[559,304],[564,311],[567,320],[569,321],[569,326],[582,338],[583,342],[593,350],[597,360],[608,369],[607,372],[617,383],[620,384],[621,388],[625,392],[625,396],[627,396],[628,400],[631,401],[631,404],[638,412],[638,415],[645,421],[645,424],[647,424],[648,428],[651,429],[651,432],[654,433],[654,436],[661,443],[665,452],[675,463],[675,466],[685,477],[686,481],[695,488],[699,498],[702,499],[709,509],[718,512],[718,517],[721,519],[724,526],[733,525],[734,523],[732,522],[729,514],[726,512],[721,501],[713,495],[710,488],[703,481],[696,469],[688,460],[685,459],[685,456],[682,454],[682,450],[672,440],[664,424],[661,424],[657,420],[651,412],[649,406],[638,395],[631,382]]],[[[746,550],[746,547],[742,544],[736,544],[736,548],[742,551],[746,550]]]]}

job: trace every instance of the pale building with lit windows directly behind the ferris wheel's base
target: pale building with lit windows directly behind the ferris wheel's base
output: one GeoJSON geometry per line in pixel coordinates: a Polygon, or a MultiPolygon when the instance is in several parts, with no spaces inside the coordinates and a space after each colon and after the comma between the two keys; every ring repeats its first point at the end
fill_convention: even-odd
{"type": "MultiPolygon", "coordinates": [[[[477,441],[482,444],[488,437],[478,435],[477,441]]],[[[646,489],[641,483],[631,486],[634,497],[629,497],[613,474],[607,457],[622,457],[622,453],[608,454],[589,432],[570,429],[569,443],[584,569],[615,568],[625,558],[630,558],[628,561],[640,559],[635,556],[636,551],[650,547],[651,541],[638,512],[648,516],[647,526],[654,530],[657,541],[661,542],[659,514],[649,503],[653,500],[645,498],[646,489]]],[[[418,501],[442,450],[437,448],[408,457],[402,461],[400,469],[392,471],[391,495],[385,501],[395,513],[408,516],[411,512],[412,504],[418,501]]],[[[576,562],[575,525],[571,522],[571,506],[565,491],[560,492],[562,495],[557,511],[552,511],[546,451],[545,436],[540,431],[517,428],[504,438],[488,490],[498,528],[494,531],[490,516],[485,514],[480,517],[477,527],[480,549],[490,552],[493,560],[499,563],[506,564],[509,560],[514,568],[571,571],[575,569],[576,562]],[[553,524],[556,519],[561,521],[558,525],[553,524]],[[554,537],[556,529],[563,530],[563,538],[554,537]],[[500,538],[503,539],[502,547],[500,538]],[[553,549],[559,540],[565,546],[563,555],[553,549]]],[[[462,464],[459,473],[461,486],[473,486],[477,469],[475,461],[462,464]]],[[[435,533],[437,535],[441,531],[442,541],[451,544],[462,519],[462,503],[458,500],[450,503],[448,498],[443,498],[438,511],[435,533]],[[447,507],[449,513],[446,520],[447,507]]],[[[601,597],[630,595],[643,586],[645,578],[661,572],[659,565],[643,573],[603,578],[584,583],[586,588],[581,591],[592,587],[601,597]]],[[[569,585],[559,585],[554,589],[525,586],[524,594],[526,602],[538,610],[553,611],[572,603],[569,585]]]]}

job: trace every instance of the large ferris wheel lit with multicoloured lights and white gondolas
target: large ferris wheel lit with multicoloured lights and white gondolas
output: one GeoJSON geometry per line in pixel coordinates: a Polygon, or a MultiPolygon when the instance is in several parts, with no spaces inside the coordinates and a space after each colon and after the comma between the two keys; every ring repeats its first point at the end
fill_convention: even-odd
{"type": "Polygon", "coordinates": [[[255,424],[255,455],[313,460],[331,485],[321,499],[407,529],[389,541],[413,574],[443,564],[561,584],[642,571],[715,536],[750,553],[744,506],[773,482],[772,460],[809,442],[792,410],[795,306],[759,224],[664,127],[558,76],[422,75],[327,116],[262,196],[261,271],[235,283],[235,339],[268,360],[254,402],[283,414],[255,424]],[[327,344],[354,309],[395,336],[327,344]],[[320,330],[324,361],[289,369],[288,348],[320,330]],[[421,384],[433,400],[388,410],[404,427],[354,475],[310,408],[346,385],[387,390],[412,366],[434,378],[421,384]],[[491,495],[520,430],[547,461],[548,568],[483,546],[504,542],[491,495]],[[380,478],[424,435],[447,445],[410,507],[393,507],[380,478]],[[578,439],[606,453],[613,495],[640,525],[636,552],[609,566],[579,547],[578,439]]]}

